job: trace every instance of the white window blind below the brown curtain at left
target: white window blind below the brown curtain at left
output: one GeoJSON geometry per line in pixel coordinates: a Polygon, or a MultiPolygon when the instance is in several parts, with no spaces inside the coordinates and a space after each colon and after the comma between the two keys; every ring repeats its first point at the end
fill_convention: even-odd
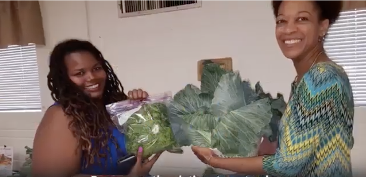
{"type": "Polygon", "coordinates": [[[0,112],[41,111],[36,45],[0,49],[0,112]]]}

